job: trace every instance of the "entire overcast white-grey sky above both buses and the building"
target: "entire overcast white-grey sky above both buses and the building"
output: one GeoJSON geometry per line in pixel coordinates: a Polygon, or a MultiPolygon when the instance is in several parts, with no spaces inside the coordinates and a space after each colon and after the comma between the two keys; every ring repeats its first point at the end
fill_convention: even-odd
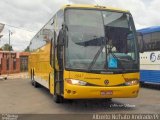
{"type": "Polygon", "coordinates": [[[9,42],[10,30],[13,49],[23,51],[61,6],[77,3],[127,9],[134,18],[136,29],[160,26],[160,0],[0,0],[0,23],[6,24],[0,33],[3,35],[0,47],[9,42]]]}

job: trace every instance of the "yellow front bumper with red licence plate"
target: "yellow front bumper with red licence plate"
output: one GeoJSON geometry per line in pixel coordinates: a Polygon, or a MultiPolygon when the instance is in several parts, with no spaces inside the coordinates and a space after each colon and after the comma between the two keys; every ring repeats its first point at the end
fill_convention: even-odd
{"type": "Polygon", "coordinates": [[[135,98],[138,96],[139,85],[95,87],[67,84],[64,88],[65,99],[94,99],[94,98],[135,98]]]}

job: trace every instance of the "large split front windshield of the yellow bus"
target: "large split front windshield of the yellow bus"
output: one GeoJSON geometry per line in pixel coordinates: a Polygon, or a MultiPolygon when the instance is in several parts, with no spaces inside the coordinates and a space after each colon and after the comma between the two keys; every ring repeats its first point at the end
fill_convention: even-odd
{"type": "Polygon", "coordinates": [[[135,29],[128,13],[68,9],[65,67],[80,70],[138,70],[135,29]]]}

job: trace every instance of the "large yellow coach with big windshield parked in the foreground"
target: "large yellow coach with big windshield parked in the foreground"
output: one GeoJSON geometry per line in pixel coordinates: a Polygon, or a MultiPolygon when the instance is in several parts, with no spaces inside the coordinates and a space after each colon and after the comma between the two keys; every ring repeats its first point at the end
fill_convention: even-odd
{"type": "Polygon", "coordinates": [[[56,103],[138,95],[138,41],[127,10],[65,5],[29,48],[31,83],[49,89],[56,103]]]}

